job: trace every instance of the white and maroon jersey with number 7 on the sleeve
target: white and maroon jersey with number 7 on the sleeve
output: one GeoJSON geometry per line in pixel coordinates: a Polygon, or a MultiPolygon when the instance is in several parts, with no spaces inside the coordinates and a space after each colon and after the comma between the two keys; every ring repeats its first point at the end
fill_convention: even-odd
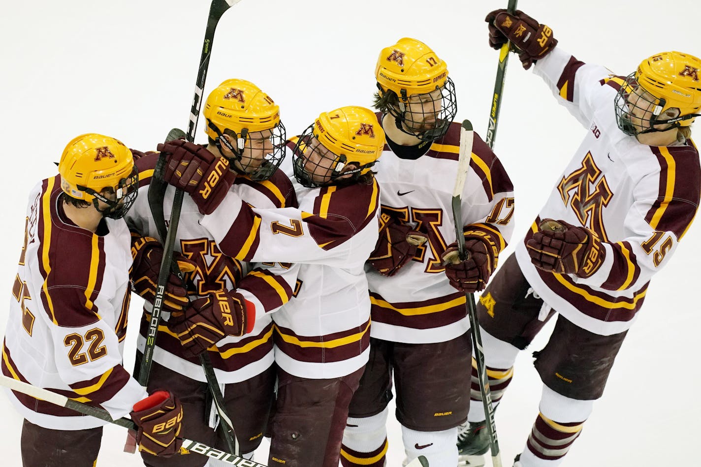
{"type": "Polygon", "coordinates": [[[273,316],[275,362],[298,377],[345,376],[369,354],[363,265],[377,241],[379,187],[294,188],[299,208],[250,208],[230,192],[201,223],[237,259],[300,264],[294,298],[273,316]]]}

